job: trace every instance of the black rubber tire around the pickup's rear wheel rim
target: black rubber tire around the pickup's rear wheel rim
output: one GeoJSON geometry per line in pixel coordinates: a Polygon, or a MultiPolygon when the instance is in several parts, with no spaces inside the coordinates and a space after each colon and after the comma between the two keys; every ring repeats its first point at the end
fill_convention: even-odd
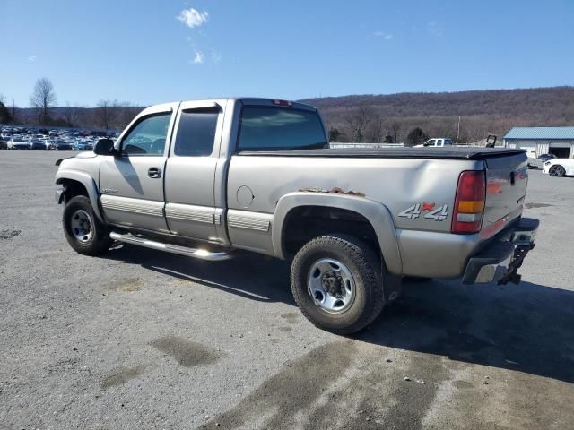
{"type": "Polygon", "coordinates": [[[352,334],[371,323],[385,305],[382,276],[385,265],[370,247],[347,235],[316,237],[304,245],[291,264],[291,290],[305,317],[316,327],[336,334],[352,334]],[[331,314],[316,305],[309,293],[310,270],[321,259],[342,262],[354,280],[354,299],[344,312],[331,314]]]}

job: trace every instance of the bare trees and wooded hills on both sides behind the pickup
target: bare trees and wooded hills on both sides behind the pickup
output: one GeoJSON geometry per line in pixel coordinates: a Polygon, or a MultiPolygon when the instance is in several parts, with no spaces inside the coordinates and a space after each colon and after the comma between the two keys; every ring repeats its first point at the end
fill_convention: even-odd
{"type": "MultiPolygon", "coordinates": [[[[317,107],[332,142],[404,142],[430,137],[476,142],[513,126],[574,125],[574,87],[355,95],[300,100],[317,107]]],[[[56,90],[40,78],[30,108],[0,95],[0,123],[122,129],[143,107],[101,99],[96,107],[57,107],[56,90]]]]}

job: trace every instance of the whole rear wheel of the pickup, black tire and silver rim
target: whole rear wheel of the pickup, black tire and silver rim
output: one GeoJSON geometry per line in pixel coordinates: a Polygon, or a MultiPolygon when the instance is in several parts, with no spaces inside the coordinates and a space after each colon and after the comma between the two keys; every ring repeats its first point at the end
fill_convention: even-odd
{"type": "Polygon", "coordinates": [[[291,264],[291,290],[305,317],[337,334],[360,331],[385,305],[376,254],[359,239],[327,235],[310,240],[291,264]]]}

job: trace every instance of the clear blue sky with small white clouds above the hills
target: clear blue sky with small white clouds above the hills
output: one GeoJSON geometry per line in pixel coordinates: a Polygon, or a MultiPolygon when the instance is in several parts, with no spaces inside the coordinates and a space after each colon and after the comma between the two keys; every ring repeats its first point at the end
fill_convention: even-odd
{"type": "Polygon", "coordinates": [[[0,0],[0,29],[21,107],[44,76],[82,106],[574,85],[571,0],[0,0]]]}

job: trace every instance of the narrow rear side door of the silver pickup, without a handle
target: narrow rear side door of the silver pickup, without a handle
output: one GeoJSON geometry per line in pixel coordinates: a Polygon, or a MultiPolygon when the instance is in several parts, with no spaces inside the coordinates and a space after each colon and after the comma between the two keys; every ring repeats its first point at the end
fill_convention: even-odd
{"type": "Polygon", "coordinates": [[[165,214],[175,235],[219,242],[222,208],[215,207],[214,185],[225,104],[180,105],[165,177],[165,214]]]}

